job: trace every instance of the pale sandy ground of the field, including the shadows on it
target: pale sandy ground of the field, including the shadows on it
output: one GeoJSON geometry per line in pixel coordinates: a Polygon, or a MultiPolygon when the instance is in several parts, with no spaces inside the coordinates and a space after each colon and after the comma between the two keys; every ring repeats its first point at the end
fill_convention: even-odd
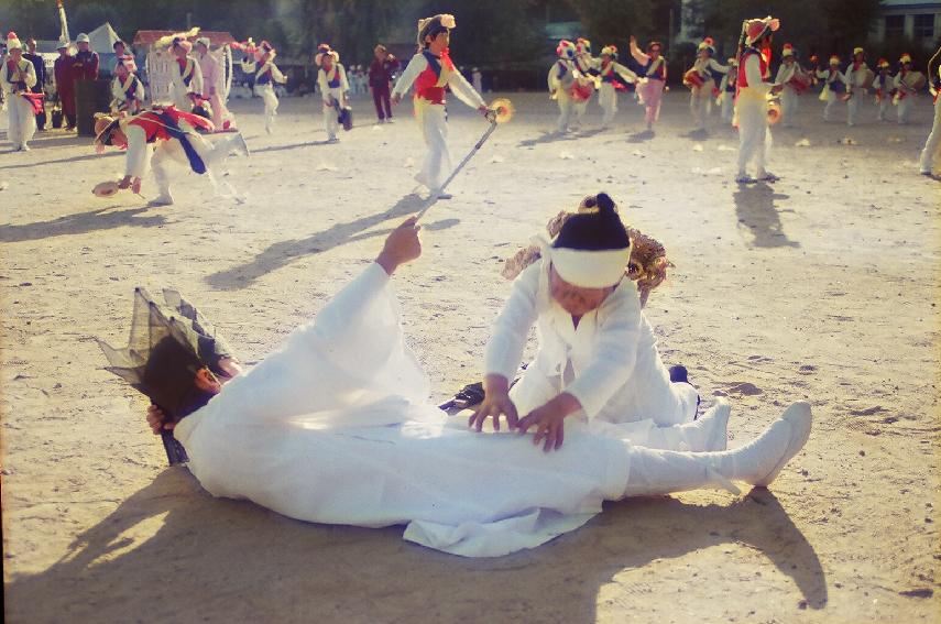
{"type": "MultiPolygon", "coordinates": [[[[737,141],[687,135],[686,94],[658,134],[622,96],[617,127],[544,136],[555,110],[515,94],[501,127],[426,218],[425,255],[396,277],[435,398],[481,373],[510,284],[501,262],[559,209],[606,189],[676,269],[647,315],[668,363],[733,402],[732,445],[789,402],[814,431],[769,491],[609,504],[580,530],[467,560],[361,529],[214,500],[167,469],[145,402],[102,370],[92,337],[125,338],[132,288],[173,285],[259,361],[376,253],[418,205],[419,134],[359,125],[322,144],[313,100],[233,109],[253,149],[248,195],[180,173],[177,205],[91,186],[121,156],[47,133],[0,154],[3,578],[9,622],[930,622],[939,550],[939,183],[916,175],[930,125],[775,129],[774,186],[731,179],[737,141]],[[853,139],[855,144],[839,142],[853,139]],[[808,139],[810,146],[797,146],[808,139]]],[[[865,119],[875,111],[866,108],[865,119]]],[[[456,103],[456,162],[483,131],[456,103]]],[[[151,180],[145,195],[155,195],[151,180]]],[[[311,475],[316,478],[316,475],[311,475]]]]}

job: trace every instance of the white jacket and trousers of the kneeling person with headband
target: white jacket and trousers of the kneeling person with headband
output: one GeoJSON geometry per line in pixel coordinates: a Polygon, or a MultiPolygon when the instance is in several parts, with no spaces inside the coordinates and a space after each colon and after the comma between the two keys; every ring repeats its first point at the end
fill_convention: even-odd
{"type": "Polygon", "coordinates": [[[514,282],[486,346],[485,374],[512,380],[536,325],[538,352],[511,391],[521,417],[567,392],[592,429],[616,429],[642,446],[678,448],[686,441],[682,427],[667,438],[657,429],[691,423],[698,396],[690,384],[670,382],[634,282],[622,280],[576,328],[549,294],[549,265],[544,255],[514,282]]]}

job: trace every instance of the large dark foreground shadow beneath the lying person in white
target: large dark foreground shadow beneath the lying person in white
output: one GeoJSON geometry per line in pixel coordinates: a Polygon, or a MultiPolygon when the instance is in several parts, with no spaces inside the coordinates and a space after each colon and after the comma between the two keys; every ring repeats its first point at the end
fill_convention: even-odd
{"type": "MultiPolygon", "coordinates": [[[[505,621],[588,624],[598,617],[600,589],[616,574],[724,544],[762,552],[794,581],[796,588],[774,589],[795,609],[822,609],[828,600],[813,547],[765,490],[730,505],[668,497],[608,504],[572,534],[495,559],[428,550],[401,534],[401,527],[307,524],[248,502],[214,500],[186,469],[171,468],[81,534],[58,562],[9,581],[7,616],[441,622],[499,613],[505,621]]],[[[623,588],[619,600],[644,610],[657,582],[623,588]]]]}

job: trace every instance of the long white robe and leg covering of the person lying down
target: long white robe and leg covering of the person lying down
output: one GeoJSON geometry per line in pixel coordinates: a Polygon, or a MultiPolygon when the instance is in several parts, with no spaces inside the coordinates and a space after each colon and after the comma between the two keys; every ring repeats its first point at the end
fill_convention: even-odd
{"type": "Polygon", "coordinates": [[[428,390],[389,276],[372,264],[174,436],[216,496],[309,522],[407,524],[405,539],[486,557],[573,530],[604,500],[767,484],[810,430],[809,406],[796,404],[741,450],[696,453],[635,448],[572,423],[565,446],[545,453],[516,433],[468,430],[427,404],[428,390]]]}

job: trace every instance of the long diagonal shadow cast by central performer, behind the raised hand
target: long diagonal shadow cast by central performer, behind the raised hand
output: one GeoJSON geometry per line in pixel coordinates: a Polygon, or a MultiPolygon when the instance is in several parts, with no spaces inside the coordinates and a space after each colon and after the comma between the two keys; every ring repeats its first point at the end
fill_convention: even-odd
{"type": "MultiPolygon", "coordinates": [[[[206,277],[206,282],[214,288],[221,291],[239,291],[248,288],[252,283],[273,271],[276,271],[295,260],[305,255],[313,255],[329,251],[336,247],[347,243],[384,237],[393,228],[384,228],[365,232],[384,221],[413,215],[424,207],[424,200],[416,194],[409,194],[396,201],[395,206],[378,215],[369,215],[353,221],[337,223],[322,232],[317,232],[305,239],[292,239],[280,241],[258,254],[253,260],[214,273],[206,277]]],[[[445,219],[434,223],[424,223],[423,228],[428,230],[441,230],[457,225],[457,219],[445,219]]],[[[398,223],[394,223],[398,226],[398,223]]]]}

